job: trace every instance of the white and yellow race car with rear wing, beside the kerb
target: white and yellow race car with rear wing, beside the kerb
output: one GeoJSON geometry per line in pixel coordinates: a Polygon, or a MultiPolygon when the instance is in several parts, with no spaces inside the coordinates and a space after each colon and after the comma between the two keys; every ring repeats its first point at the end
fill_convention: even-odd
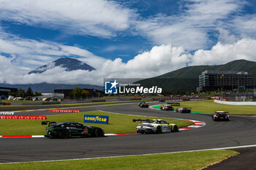
{"type": "Polygon", "coordinates": [[[177,132],[179,131],[178,125],[176,124],[170,124],[165,122],[165,120],[161,119],[154,119],[154,120],[133,120],[133,122],[136,121],[144,121],[144,123],[140,123],[137,127],[137,133],[140,134],[161,134],[161,133],[167,133],[167,132],[177,132]]]}

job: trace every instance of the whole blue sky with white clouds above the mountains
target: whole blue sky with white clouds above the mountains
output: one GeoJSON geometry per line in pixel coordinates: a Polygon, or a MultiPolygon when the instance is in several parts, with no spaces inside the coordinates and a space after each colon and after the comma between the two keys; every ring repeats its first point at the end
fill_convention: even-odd
{"type": "Polygon", "coordinates": [[[255,10],[252,0],[0,0],[0,72],[12,74],[0,82],[74,84],[256,61],[255,10]],[[61,57],[97,71],[26,74],[61,57]]]}

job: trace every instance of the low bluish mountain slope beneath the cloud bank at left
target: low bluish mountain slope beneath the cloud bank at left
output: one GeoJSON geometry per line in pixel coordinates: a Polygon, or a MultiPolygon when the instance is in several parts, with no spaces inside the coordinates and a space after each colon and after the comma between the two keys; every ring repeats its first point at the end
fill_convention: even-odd
{"type": "Polygon", "coordinates": [[[33,90],[33,92],[38,93],[53,93],[54,89],[73,89],[75,87],[79,88],[94,88],[97,90],[103,90],[102,86],[99,85],[65,85],[65,84],[50,84],[50,83],[37,83],[37,84],[28,84],[28,85],[9,85],[0,83],[0,87],[5,88],[22,88],[24,90],[27,90],[29,87],[33,90]]]}

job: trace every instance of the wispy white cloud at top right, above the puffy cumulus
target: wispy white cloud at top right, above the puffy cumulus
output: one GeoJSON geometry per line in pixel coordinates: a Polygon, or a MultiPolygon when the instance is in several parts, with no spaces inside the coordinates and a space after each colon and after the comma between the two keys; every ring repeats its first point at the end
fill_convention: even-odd
{"type": "Polygon", "coordinates": [[[198,50],[211,44],[208,32],[225,26],[234,12],[239,12],[244,1],[238,0],[187,0],[182,13],[166,16],[159,14],[152,18],[136,21],[135,25],[143,36],[155,44],[170,43],[183,46],[186,50],[198,50]]]}

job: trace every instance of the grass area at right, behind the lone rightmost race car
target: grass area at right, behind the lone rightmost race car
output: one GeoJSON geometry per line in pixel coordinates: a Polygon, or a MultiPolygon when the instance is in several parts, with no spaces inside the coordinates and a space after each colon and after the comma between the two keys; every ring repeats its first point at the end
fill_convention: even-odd
{"type": "MultiPolygon", "coordinates": [[[[181,107],[191,107],[192,112],[214,113],[223,110],[230,115],[256,115],[256,106],[236,106],[229,104],[217,104],[212,100],[207,101],[185,101],[181,107]]],[[[174,107],[175,109],[178,107],[174,107]]]]}

